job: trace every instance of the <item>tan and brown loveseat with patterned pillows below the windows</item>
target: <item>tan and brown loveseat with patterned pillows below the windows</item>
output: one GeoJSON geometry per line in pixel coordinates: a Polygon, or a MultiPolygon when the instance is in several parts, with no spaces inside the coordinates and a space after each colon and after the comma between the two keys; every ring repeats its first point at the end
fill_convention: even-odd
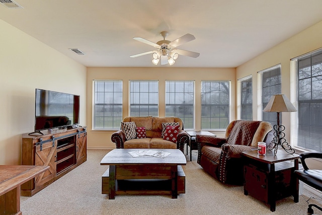
{"type": "MultiPolygon", "coordinates": [[[[168,126],[169,127],[169,126],[168,126]]],[[[113,142],[115,142],[116,149],[179,149],[184,152],[184,146],[189,141],[189,135],[184,131],[183,121],[178,117],[125,117],[121,122],[121,129],[114,132],[111,136],[113,142]],[[128,128],[125,126],[128,122],[134,122],[139,133],[129,136],[128,128]],[[163,124],[164,123],[164,124],[163,124]],[[176,139],[168,140],[163,136],[163,130],[165,131],[165,123],[176,123],[179,126],[172,126],[178,128],[178,136],[176,139]],[[164,125],[164,127],[163,127],[164,125]],[[125,128],[126,127],[126,128],[125,128]],[[143,129],[143,138],[141,131],[143,129]],[[128,138],[126,137],[128,136],[128,138]]]]}

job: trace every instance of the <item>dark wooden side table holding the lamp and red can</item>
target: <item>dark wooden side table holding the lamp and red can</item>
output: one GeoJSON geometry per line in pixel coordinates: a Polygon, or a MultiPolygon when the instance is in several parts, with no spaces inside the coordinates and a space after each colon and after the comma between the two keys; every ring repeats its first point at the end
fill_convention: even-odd
{"type": "Polygon", "coordinates": [[[271,211],[276,209],[276,200],[293,196],[298,202],[298,179],[294,171],[298,169],[299,155],[290,155],[283,149],[267,151],[266,155],[258,155],[257,151],[243,152],[244,194],[270,205],[271,211]],[[294,164],[290,161],[294,160],[294,164]]]}

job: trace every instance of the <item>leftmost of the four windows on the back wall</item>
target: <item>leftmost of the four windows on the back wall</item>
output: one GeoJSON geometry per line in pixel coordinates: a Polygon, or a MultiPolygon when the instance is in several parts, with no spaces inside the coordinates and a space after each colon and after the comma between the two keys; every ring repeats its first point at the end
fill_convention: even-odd
{"type": "Polygon", "coordinates": [[[94,81],[94,129],[120,128],[122,87],[122,81],[94,81]]]}

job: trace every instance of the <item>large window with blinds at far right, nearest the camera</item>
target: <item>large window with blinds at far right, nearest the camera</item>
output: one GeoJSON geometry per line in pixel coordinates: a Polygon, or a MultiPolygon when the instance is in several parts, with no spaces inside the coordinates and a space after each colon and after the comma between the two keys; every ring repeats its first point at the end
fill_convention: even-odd
{"type": "Polygon", "coordinates": [[[322,50],[297,57],[293,62],[295,87],[291,101],[297,112],[291,114],[292,145],[322,152],[322,50]]]}

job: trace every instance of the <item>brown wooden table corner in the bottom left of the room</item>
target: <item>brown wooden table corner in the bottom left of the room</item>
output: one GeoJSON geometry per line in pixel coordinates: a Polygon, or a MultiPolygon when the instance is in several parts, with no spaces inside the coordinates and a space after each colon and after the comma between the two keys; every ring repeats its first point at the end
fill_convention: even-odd
{"type": "Polygon", "coordinates": [[[0,214],[22,214],[20,185],[45,172],[49,166],[0,166],[0,214]]]}

